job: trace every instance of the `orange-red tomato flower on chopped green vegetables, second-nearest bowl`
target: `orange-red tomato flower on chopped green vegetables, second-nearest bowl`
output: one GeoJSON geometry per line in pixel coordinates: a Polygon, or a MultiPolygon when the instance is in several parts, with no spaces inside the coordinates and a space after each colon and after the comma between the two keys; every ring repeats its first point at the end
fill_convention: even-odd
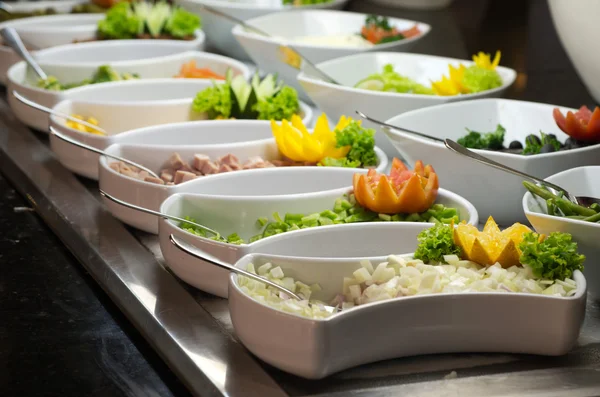
{"type": "Polygon", "coordinates": [[[411,214],[427,211],[435,203],[438,177],[431,165],[417,161],[414,170],[394,158],[390,175],[371,169],[354,174],[354,197],[364,208],[380,214],[411,214]]]}

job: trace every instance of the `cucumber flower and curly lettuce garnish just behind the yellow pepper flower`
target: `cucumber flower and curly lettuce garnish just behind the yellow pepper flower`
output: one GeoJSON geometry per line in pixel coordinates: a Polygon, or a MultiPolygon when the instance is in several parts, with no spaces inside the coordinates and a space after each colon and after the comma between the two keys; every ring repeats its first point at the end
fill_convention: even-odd
{"type": "Polygon", "coordinates": [[[209,119],[283,120],[300,113],[298,92],[277,81],[275,75],[248,83],[244,76],[227,72],[224,84],[200,91],[192,109],[208,114],[209,119]]]}

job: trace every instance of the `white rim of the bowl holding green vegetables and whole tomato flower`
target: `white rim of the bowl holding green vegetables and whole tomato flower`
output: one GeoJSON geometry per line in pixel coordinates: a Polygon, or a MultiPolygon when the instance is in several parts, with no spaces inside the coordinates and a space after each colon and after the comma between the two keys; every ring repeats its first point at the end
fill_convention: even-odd
{"type": "MultiPolygon", "coordinates": [[[[284,195],[284,194],[280,194],[280,195],[270,195],[270,196],[266,196],[269,198],[275,197],[275,198],[288,198],[288,197],[296,197],[298,198],[298,196],[303,196],[303,197],[315,197],[315,196],[319,196],[319,195],[328,195],[332,192],[339,192],[340,194],[343,194],[344,192],[348,192],[349,190],[352,189],[352,186],[349,185],[348,187],[344,187],[344,188],[339,188],[339,189],[331,189],[331,190],[322,190],[319,192],[312,192],[312,193],[302,193],[302,194],[291,194],[291,195],[284,195]]],[[[473,206],[473,204],[471,204],[467,199],[465,199],[464,197],[451,192],[449,190],[446,189],[442,189],[440,188],[438,190],[438,197],[440,195],[440,193],[442,194],[442,196],[444,196],[445,198],[448,198],[450,200],[455,201],[457,204],[459,204],[460,206],[464,207],[467,209],[467,211],[469,212],[469,220],[467,221],[469,224],[476,224],[479,221],[479,214],[477,213],[477,209],[473,206]]],[[[194,197],[213,197],[213,198],[220,198],[220,199],[224,199],[224,200],[232,200],[232,197],[234,197],[236,200],[242,200],[242,201],[253,201],[256,200],[257,197],[261,197],[261,196],[231,196],[231,195],[214,195],[214,194],[200,194],[200,193],[186,193],[186,192],[176,192],[171,194],[169,197],[167,197],[160,205],[160,212],[163,213],[167,213],[165,208],[171,206],[172,202],[176,201],[176,200],[181,200],[184,197],[190,197],[190,196],[194,196],[194,197]]],[[[267,239],[271,239],[273,237],[276,237],[278,235],[273,235],[273,236],[269,236],[269,237],[265,237],[261,240],[257,240],[257,241],[253,241],[251,243],[244,243],[244,244],[231,244],[231,243],[225,243],[222,241],[215,241],[215,240],[211,240],[207,237],[202,237],[202,236],[198,236],[196,234],[192,234],[190,232],[188,232],[187,230],[183,230],[181,229],[179,226],[177,226],[174,221],[171,221],[169,219],[162,219],[163,222],[166,222],[170,227],[172,228],[176,228],[180,233],[183,233],[186,236],[189,236],[191,239],[193,240],[199,240],[199,242],[203,243],[203,244],[211,244],[211,245],[215,245],[215,246],[219,246],[222,248],[227,248],[227,249],[247,249],[248,247],[254,247],[256,245],[259,245],[261,243],[263,243],[265,240],[267,239]]],[[[318,230],[329,230],[329,228],[332,227],[348,227],[348,226],[352,226],[352,225],[358,225],[360,224],[361,226],[364,225],[378,225],[378,224],[393,224],[393,225],[428,225],[428,226],[433,226],[434,223],[430,223],[430,222],[384,222],[384,221],[377,221],[377,222],[368,222],[366,224],[363,223],[344,223],[344,224],[339,224],[339,225],[325,225],[325,226],[319,226],[317,229],[318,230]]],[[[313,228],[311,229],[299,229],[299,230],[292,230],[289,232],[286,232],[286,235],[290,235],[290,233],[297,233],[297,232],[302,232],[304,230],[314,230],[313,228]]],[[[306,232],[308,233],[308,232],[306,232]]]]}

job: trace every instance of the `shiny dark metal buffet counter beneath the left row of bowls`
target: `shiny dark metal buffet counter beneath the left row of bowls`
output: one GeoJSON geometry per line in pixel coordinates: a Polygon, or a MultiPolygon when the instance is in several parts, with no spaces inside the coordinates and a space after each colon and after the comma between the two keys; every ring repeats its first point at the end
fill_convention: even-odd
{"type": "Polygon", "coordinates": [[[600,395],[600,307],[591,300],[578,345],[563,357],[445,354],[364,365],[318,381],[286,374],[253,357],[236,340],[227,302],[170,273],[158,238],[114,219],[97,184],[62,167],[47,136],[19,123],[4,99],[0,170],[195,395],[600,395]]]}

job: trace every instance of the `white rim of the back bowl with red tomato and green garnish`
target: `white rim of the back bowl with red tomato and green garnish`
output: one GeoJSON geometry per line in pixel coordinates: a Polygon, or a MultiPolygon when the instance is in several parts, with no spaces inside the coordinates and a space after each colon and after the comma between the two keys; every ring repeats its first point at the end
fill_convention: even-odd
{"type": "MultiPolygon", "coordinates": [[[[368,14],[364,14],[364,13],[360,13],[360,12],[350,12],[350,11],[342,11],[342,10],[330,10],[330,9],[303,9],[303,10],[288,10],[288,11],[282,11],[282,12],[278,12],[278,13],[271,13],[271,14],[265,14],[265,15],[261,15],[258,16],[256,18],[252,18],[252,19],[248,19],[246,21],[247,24],[255,24],[257,26],[260,26],[260,24],[262,22],[264,22],[265,20],[269,20],[269,19],[276,19],[278,18],[281,14],[290,14],[290,13],[295,13],[295,14],[314,14],[314,15],[323,15],[323,16],[327,16],[327,15],[332,15],[332,14],[336,14],[336,16],[354,16],[354,15],[362,15],[363,17],[368,16],[368,14]]],[[[332,16],[332,17],[336,17],[336,16],[332,16]]],[[[412,19],[404,19],[404,18],[395,18],[395,17],[388,17],[388,19],[390,20],[390,22],[402,22],[402,23],[413,23],[416,26],[419,27],[419,30],[421,31],[421,34],[415,37],[410,37],[410,38],[406,38],[406,39],[402,39],[399,41],[394,41],[394,42],[390,42],[390,43],[384,43],[384,44],[375,44],[372,47],[340,47],[340,46],[335,46],[335,45],[315,45],[315,44],[306,44],[306,43],[294,43],[294,47],[298,48],[298,49],[304,49],[304,50],[329,50],[329,51],[335,51],[335,50],[352,50],[352,51],[359,51],[359,52],[364,52],[364,51],[373,51],[375,49],[379,49],[379,50],[386,50],[386,49],[392,49],[392,48],[399,48],[405,45],[408,45],[410,43],[414,43],[422,38],[424,38],[425,36],[427,36],[429,34],[429,32],[431,32],[431,25],[425,23],[425,22],[420,22],[420,21],[414,21],[412,19]]],[[[232,29],[231,29],[231,33],[234,36],[239,36],[239,37],[244,37],[244,38],[248,38],[251,40],[255,40],[255,41],[260,41],[263,43],[270,43],[270,44],[281,44],[281,42],[285,42],[286,38],[283,39],[277,39],[275,37],[265,37],[262,36],[258,33],[253,33],[253,32],[249,32],[246,31],[244,29],[244,27],[242,27],[242,25],[235,25],[232,29]]]]}

